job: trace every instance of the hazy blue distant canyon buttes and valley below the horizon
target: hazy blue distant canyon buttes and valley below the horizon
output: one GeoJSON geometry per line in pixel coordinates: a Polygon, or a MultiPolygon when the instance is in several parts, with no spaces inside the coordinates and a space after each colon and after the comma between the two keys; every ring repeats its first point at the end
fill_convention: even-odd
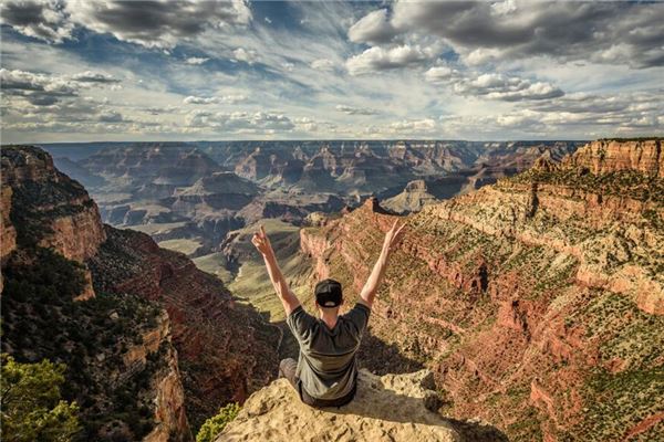
{"type": "Polygon", "coordinates": [[[301,225],[370,196],[409,212],[559,159],[580,141],[199,141],[44,145],[91,192],[104,222],[201,257],[261,219],[301,225]],[[411,181],[424,181],[408,185],[411,181]],[[417,189],[422,186],[426,192],[417,189]]]}

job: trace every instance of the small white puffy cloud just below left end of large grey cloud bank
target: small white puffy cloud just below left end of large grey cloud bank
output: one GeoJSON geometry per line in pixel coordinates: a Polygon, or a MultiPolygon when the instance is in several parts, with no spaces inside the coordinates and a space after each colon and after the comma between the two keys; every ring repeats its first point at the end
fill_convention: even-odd
{"type": "Polygon", "coordinates": [[[346,60],[346,69],[351,75],[369,74],[422,64],[435,54],[428,48],[404,44],[394,48],[373,46],[359,55],[346,60]]]}

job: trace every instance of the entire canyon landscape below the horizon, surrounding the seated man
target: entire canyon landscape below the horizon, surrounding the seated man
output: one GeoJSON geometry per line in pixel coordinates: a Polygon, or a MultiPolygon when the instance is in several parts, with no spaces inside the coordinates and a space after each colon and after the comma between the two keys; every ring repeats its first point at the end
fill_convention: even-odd
{"type": "Polygon", "coordinates": [[[81,440],[188,441],[231,401],[220,441],[664,434],[661,139],[257,144],[2,147],[2,351],[68,365],[81,440]],[[396,219],[365,400],[301,409],[250,235],[313,312],[322,277],[353,305],[396,219]]]}

